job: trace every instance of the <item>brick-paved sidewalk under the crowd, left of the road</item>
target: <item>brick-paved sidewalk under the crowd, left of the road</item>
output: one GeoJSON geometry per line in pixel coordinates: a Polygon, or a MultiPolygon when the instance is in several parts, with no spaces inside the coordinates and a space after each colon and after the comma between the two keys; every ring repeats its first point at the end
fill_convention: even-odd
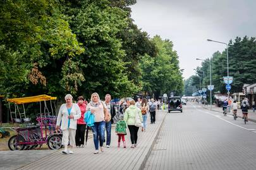
{"type": "MultiPolygon", "coordinates": [[[[94,153],[93,139],[89,139],[85,148],[73,149],[75,154],[63,155],[62,150],[54,152],[49,156],[31,162],[20,169],[143,169],[150,155],[154,142],[157,138],[162,122],[167,111],[157,111],[155,124],[149,124],[150,116],[147,118],[147,130],[138,132],[138,146],[130,148],[130,134],[126,135],[126,149],[118,148],[118,137],[112,129],[111,147],[104,147],[104,152],[94,153]]],[[[127,129],[127,132],[129,130],[127,129]]],[[[39,151],[40,152],[40,151],[39,151]]],[[[22,165],[21,165],[22,166],[22,165]]]]}

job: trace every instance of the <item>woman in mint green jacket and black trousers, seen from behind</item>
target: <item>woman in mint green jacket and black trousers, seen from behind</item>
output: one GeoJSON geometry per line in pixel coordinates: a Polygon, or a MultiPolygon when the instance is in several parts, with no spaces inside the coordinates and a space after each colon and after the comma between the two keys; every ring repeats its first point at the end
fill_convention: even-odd
{"type": "Polygon", "coordinates": [[[142,111],[135,106],[135,101],[132,99],[130,100],[130,106],[125,111],[125,123],[128,125],[130,135],[131,135],[131,148],[137,146],[137,139],[138,139],[138,128],[135,126],[136,122],[136,115],[140,117],[140,121],[142,122],[142,111]]]}

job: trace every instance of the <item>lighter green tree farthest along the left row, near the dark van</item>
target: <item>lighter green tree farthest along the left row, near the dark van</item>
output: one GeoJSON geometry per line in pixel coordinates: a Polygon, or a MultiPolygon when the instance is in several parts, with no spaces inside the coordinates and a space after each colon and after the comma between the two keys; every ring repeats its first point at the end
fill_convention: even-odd
{"type": "Polygon", "coordinates": [[[155,36],[152,42],[157,45],[156,57],[145,55],[140,62],[142,69],[143,91],[154,93],[157,98],[163,93],[181,94],[183,80],[181,77],[178,55],[173,51],[173,43],[155,36]]]}

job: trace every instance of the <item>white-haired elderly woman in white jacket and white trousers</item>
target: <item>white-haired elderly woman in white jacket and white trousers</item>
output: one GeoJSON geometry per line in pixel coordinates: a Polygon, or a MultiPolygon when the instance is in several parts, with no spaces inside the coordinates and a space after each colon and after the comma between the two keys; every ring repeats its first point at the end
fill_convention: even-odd
{"type": "Polygon", "coordinates": [[[63,154],[73,154],[73,151],[68,150],[68,141],[70,140],[70,147],[75,147],[75,135],[76,135],[76,121],[81,117],[81,111],[76,103],[72,103],[73,97],[71,94],[66,94],[66,103],[59,108],[56,130],[63,132],[62,144],[64,145],[63,154]]]}

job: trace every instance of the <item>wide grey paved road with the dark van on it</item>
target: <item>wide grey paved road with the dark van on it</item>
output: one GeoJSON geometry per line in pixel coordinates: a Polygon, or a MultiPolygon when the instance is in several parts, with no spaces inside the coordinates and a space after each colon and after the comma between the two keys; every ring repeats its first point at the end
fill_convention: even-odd
{"type": "Polygon", "coordinates": [[[188,103],[166,116],[145,169],[256,169],[256,123],[188,103]]]}

